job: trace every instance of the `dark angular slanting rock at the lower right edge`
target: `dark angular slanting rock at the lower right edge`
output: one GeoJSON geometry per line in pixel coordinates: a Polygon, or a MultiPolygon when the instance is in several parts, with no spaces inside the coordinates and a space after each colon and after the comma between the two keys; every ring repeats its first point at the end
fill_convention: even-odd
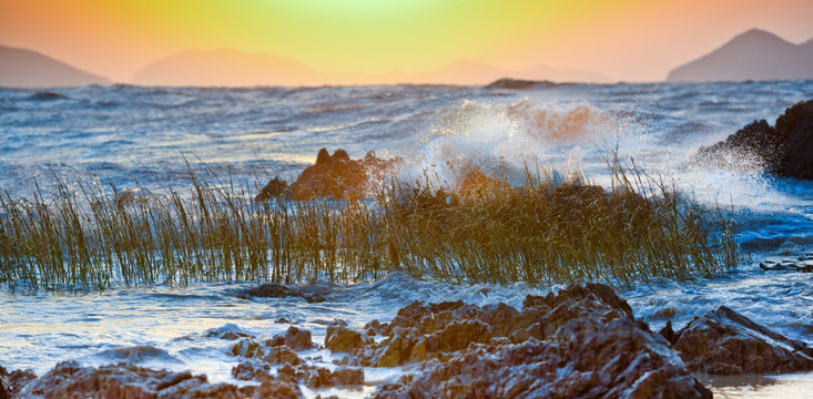
{"type": "Polygon", "coordinates": [[[813,370],[813,348],[725,306],[689,323],[674,335],[673,346],[693,371],[739,375],[813,370]]]}

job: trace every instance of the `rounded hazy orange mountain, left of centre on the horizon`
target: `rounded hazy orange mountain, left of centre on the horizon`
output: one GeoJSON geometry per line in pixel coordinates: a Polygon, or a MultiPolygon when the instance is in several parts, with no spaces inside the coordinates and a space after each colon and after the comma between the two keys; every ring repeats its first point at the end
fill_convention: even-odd
{"type": "Polygon", "coordinates": [[[157,60],[135,73],[143,85],[311,85],[322,75],[294,60],[233,49],[184,51],[157,60]]]}

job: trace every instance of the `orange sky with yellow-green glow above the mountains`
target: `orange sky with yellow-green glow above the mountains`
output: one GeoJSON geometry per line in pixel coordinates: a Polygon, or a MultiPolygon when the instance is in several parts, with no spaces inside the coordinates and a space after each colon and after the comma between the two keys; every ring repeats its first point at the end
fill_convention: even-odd
{"type": "Polygon", "coordinates": [[[459,60],[662,81],[752,28],[813,38],[811,0],[2,0],[0,44],[116,82],[185,50],[231,48],[329,74],[459,60]]]}

